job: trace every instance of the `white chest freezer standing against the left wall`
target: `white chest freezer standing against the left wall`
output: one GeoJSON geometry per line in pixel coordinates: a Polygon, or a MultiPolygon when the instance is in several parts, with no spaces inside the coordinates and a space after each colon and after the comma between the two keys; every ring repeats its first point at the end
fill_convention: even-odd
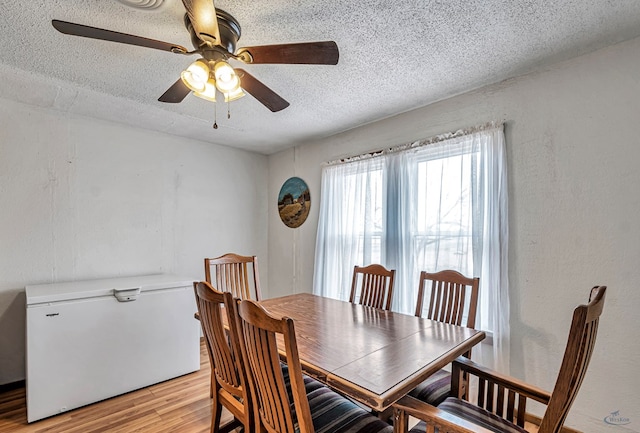
{"type": "Polygon", "coordinates": [[[193,281],[149,275],[27,286],[28,422],[198,370],[193,281]]]}

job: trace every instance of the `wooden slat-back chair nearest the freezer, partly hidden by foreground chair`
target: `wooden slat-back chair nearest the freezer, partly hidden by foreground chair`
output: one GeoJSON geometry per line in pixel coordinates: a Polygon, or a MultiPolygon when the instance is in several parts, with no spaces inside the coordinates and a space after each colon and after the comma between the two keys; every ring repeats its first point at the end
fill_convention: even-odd
{"type": "Polygon", "coordinates": [[[215,290],[206,281],[194,282],[193,287],[202,332],[210,349],[213,397],[211,432],[228,432],[239,425],[244,427],[245,432],[253,432],[255,418],[252,400],[246,386],[236,322],[232,320],[237,315],[233,296],[229,292],[215,290]],[[225,310],[220,308],[223,304],[226,304],[225,310]],[[228,315],[229,332],[224,328],[223,314],[228,315]],[[222,406],[231,412],[234,420],[221,429],[222,406]]]}

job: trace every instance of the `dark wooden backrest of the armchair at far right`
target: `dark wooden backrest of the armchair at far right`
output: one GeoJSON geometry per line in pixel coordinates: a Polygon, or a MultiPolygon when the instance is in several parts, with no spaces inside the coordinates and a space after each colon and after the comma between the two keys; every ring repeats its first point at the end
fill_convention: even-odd
{"type": "Polygon", "coordinates": [[[539,433],[559,433],[562,429],[591,360],[606,291],[606,286],[594,287],[591,289],[589,303],[580,305],[573,311],[562,365],[540,423],[539,433]]]}

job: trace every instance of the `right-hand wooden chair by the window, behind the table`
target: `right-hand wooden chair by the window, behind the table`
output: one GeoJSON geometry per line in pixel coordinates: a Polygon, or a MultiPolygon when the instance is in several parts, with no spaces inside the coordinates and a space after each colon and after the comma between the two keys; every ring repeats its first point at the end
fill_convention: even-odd
{"type": "MultiPolygon", "coordinates": [[[[468,278],[453,270],[436,273],[422,271],[415,315],[422,317],[424,298],[428,295],[427,319],[475,329],[479,285],[479,278],[468,278]],[[466,321],[463,323],[464,317],[466,321]]],[[[471,353],[466,353],[465,356],[471,358],[471,353]]],[[[409,395],[437,406],[450,392],[451,375],[446,370],[439,370],[414,388],[409,395]]]]}

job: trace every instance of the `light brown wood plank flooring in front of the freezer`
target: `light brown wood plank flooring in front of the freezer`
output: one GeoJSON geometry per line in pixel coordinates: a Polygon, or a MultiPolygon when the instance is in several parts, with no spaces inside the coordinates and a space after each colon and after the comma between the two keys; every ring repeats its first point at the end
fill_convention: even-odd
{"type": "MultiPolygon", "coordinates": [[[[0,433],[204,433],[211,428],[206,348],[200,371],[27,424],[25,388],[0,394],[0,433]]],[[[223,423],[231,414],[223,412],[223,423]]]]}

